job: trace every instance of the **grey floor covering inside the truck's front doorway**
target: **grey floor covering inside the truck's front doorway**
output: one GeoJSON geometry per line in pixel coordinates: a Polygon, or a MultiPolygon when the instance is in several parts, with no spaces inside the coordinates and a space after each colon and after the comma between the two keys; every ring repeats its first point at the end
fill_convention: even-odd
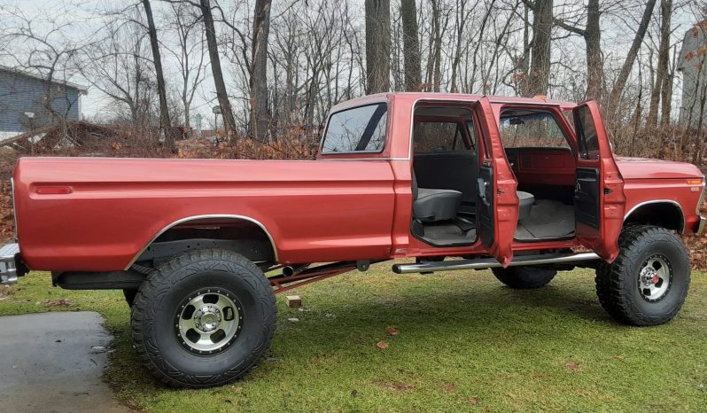
{"type": "Polygon", "coordinates": [[[574,207],[562,202],[538,199],[531,214],[518,222],[515,238],[518,241],[569,238],[574,236],[574,207]]]}

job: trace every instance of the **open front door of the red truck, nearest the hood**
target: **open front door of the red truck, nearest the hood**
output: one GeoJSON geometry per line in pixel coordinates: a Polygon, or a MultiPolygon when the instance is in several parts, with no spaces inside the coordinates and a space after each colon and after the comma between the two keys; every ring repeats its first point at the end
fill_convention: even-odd
{"type": "Polygon", "coordinates": [[[599,106],[594,100],[578,105],[574,127],[577,153],[574,211],[579,242],[604,261],[618,255],[618,234],[624,225],[624,179],[611,153],[599,106]]]}

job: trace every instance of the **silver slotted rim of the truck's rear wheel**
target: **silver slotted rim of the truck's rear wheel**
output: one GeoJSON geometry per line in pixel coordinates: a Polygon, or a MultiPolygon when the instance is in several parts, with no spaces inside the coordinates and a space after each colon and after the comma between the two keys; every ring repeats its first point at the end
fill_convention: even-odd
{"type": "Polygon", "coordinates": [[[237,339],[243,327],[243,308],[229,292],[206,289],[194,292],[176,311],[175,330],[191,353],[219,353],[237,339]]]}

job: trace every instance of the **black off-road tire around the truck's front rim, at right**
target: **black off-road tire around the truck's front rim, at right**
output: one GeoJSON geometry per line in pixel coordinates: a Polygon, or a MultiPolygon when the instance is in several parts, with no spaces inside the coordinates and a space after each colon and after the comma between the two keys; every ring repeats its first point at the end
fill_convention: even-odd
{"type": "Polygon", "coordinates": [[[657,325],[672,320],[688,295],[690,261],[685,245],[670,230],[651,225],[626,227],[618,238],[618,258],[596,269],[596,295],[620,323],[657,325]],[[668,263],[670,283],[657,300],[641,294],[641,269],[652,257],[668,263]]]}

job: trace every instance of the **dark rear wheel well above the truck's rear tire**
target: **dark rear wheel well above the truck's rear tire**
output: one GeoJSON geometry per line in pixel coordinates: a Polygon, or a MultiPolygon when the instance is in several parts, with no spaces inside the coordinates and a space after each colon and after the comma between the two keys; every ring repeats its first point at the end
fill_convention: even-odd
{"type": "Polygon", "coordinates": [[[276,246],[267,230],[247,218],[195,217],[168,227],[144,248],[136,263],[154,266],[193,250],[221,248],[253,262],[277,261],[276,246]]]}

